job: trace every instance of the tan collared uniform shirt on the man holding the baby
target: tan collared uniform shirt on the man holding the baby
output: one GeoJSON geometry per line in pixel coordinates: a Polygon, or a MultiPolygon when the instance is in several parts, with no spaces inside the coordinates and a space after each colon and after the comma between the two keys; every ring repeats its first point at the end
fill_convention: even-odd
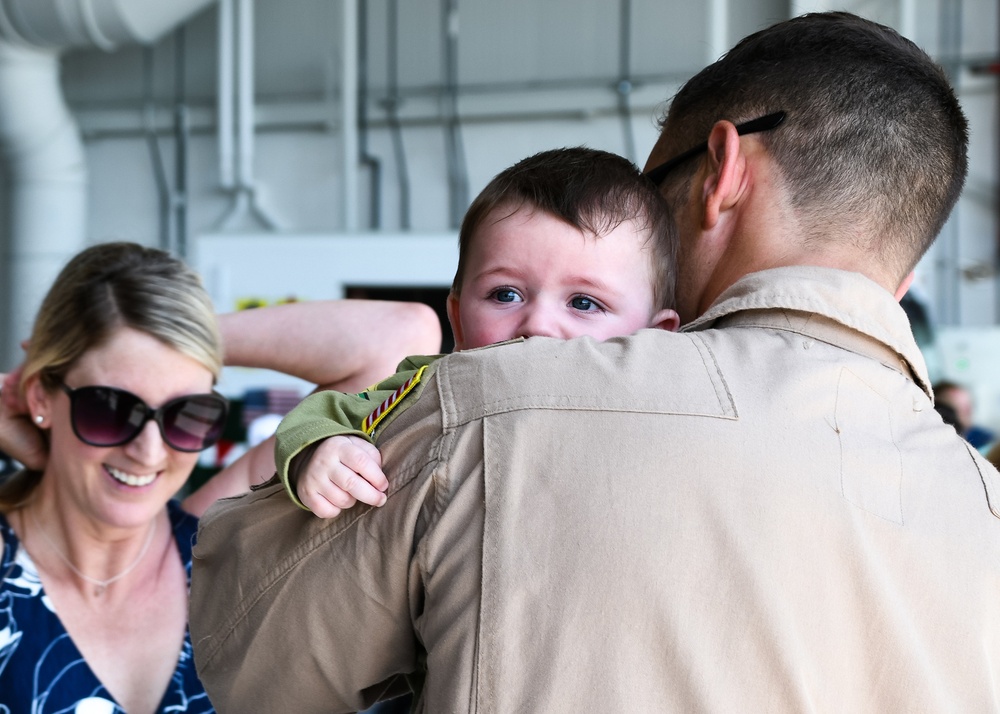
{"type": "Polygon", "coordinates": [[[281,485],[195,548],[221,712],[1000,710],[1000,476],[860,275],[748,276],[684,333],[438,361],[380,509],[281,485]],[[367,692],[362,692],[368,688],[367,692]]]}

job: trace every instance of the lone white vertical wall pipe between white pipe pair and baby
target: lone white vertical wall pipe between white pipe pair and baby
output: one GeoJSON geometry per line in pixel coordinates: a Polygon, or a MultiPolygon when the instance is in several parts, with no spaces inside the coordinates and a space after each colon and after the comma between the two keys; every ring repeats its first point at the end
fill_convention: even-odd
{"type": "Polygon", "coordinates": [[[343,182],[344,230],[358,230],[358,1],[342,0],[340,131],[343,136],[341,181],[343,182]]]}

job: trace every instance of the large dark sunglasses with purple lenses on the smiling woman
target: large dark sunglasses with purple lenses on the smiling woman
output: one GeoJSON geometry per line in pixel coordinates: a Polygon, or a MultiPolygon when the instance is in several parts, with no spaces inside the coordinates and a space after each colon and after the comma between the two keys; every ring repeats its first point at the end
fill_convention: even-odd
{"type": "Polygon", "coordinates": [[[115,387],[62,384],[69,395],[73,433],[91,446],[121,446],[139,435],[150,419],[178,451],[201,451],[219,440],[229,402],[221,394],[188,394],[153,409],[139,397],[115,387]]]}

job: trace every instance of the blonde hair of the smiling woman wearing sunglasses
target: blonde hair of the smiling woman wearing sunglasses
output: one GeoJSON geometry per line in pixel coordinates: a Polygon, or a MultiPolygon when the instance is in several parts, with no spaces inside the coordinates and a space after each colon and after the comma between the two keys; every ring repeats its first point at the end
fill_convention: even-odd
{"type": "MultiPolygon", "coordinates": [[[[102,243],[73,257],[42,301],[21,376],[49,391],[88,351],[120,328],[155,337],[204,365],[217,379],[222,341],[201,279],[170,254],[135,243],[102,243]]],[[[22,472],[0,486],[0,510],[30,496],[38,473],[22,472]]]]}

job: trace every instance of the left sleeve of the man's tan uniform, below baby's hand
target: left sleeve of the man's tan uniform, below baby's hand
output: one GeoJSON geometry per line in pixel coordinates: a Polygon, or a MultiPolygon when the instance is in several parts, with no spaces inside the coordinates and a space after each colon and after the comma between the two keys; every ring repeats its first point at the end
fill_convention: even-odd
{"type": "Polygon", "coordinates": [[[393,420],[381,508],[359,504],[320,519],[273,484],[223,499],[201,519],[190,630],[198,676],[220,714],[358,711],[420,671],[420,544],[441,502],[433,384],[429,376],[393,420]]]}

